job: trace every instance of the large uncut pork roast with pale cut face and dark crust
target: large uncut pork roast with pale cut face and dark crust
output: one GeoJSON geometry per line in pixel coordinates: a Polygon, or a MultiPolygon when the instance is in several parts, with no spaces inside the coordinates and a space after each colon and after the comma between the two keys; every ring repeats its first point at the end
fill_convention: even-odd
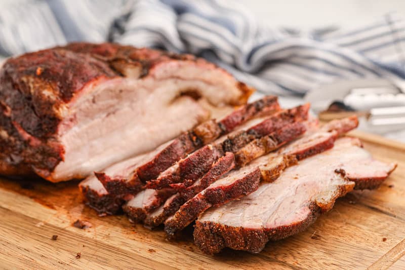
{"type": "Polygon", "coordinates": [[[203,59],[117,44],[10,58],[0,70],[0,174],[84,178],[156,148],[210,110],[244,104],[251,93],[203,59]]]}

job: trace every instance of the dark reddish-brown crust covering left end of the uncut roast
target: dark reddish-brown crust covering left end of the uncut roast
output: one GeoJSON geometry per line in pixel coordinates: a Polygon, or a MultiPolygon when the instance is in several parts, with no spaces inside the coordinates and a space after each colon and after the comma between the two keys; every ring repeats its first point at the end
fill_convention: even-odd
{"type": "Polygon", "coordinates": [[[47,178],[64,155],[55,138],[60,110],[86,85],[114,76],[108,64],[62,48],[8,59],[0,70],[2,173],[31,168],[47,178]]]}

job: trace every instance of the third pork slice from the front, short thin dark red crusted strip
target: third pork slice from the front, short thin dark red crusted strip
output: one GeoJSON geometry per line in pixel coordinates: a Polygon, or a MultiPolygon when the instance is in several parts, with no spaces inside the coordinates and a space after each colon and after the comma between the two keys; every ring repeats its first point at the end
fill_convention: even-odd
{"type": "Polygon", "coordinates": [[[185,183],[172,184],[171,187],[179,190],[179,192],[170,197],[163,205],[154,212],[146,215],[144,221],[147,227],[156,227],[162,224],[168,217],[173,215],[180,206],[189,199],[194,197],[198,192],[207,188],[210,184],[221,178],[224,174],[235,167],[235,158],[233,153],[226,152],[225,156],[218,159],[212,168],[200,179],[192,185],[185,183]]]}

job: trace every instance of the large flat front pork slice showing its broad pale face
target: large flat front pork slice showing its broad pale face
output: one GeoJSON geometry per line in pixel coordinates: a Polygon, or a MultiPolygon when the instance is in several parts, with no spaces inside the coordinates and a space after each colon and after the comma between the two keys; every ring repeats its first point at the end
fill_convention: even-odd
{"type": "Polygon", "coordinates": [[[196,221],[195,244],[209,254],[224,247],[260,252],[270,240],[302,232],[356,183],[374,188],[395,166],[374,160],[358,139],[338,139],[241,200],[207,210],[196,221]]]}

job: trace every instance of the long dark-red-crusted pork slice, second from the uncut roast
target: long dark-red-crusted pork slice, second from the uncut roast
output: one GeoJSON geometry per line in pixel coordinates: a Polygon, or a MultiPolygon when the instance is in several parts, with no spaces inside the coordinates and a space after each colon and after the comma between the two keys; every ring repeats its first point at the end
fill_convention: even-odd
{"type": "MultiPolygon", "coordinates": [[[[294,122],[302,122],[308,118],[309,105],[301,105],[292,109],[275,112],[267,119],[258,119],[248,122],[241,126],[238,130],[227,136],[217,139],[213,144],[206,145],[193,153],[187,158],[180,160],[172,167],[161,173],[155,180],[151,180],[146,184],[147,188],[163,188],[172,183],[177,183],[187,180],[189,183],[202,177],[212,166],[212,164],[224,155],[226,151],[235,152],[250,141],[261,138],[276,130],[285,128],[286,125],[294,122]],[[246,129],[245,129],[246,128],[246,129]]],[[[287,129],[286,129],[287,130],[287,129]]],[[[292,128],[292,131],[296,131],[292,128]]],[[[285,134],[286,132],[282,133],[285,134]]],[[[277,136],[278,133],[274,133],[277,136]]],[[[291,132],[293,138],[295,134],[291,132]]],[[[276,138],[285,140],[285,138],[276,138]]],[[[268,143],[269,143],[268,139],[268,143]]],[[[270,151],[270,146],[267,151],[270,151]]]]}

